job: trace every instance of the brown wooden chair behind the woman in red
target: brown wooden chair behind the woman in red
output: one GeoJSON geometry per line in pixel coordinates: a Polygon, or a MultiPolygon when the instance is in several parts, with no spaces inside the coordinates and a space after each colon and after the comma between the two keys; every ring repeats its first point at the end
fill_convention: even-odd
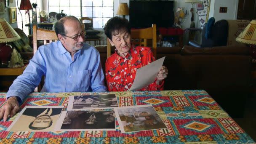
{"type": "MultiPolygon", "coordinates": [[[[149,47],[148,40],[152,40],[152,52],[157,56],[157,26],[152,24],[152,27],[144,29],[131,29],[131,39],[134,45],[149,47]]],[[[107,40],[107,57],[111,55],[111,46],[107,40]]]]}

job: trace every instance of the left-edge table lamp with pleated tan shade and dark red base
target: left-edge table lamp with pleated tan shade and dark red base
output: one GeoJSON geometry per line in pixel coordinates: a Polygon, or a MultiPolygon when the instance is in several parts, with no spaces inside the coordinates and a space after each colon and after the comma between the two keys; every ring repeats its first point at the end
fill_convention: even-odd
{"type": "Polygon", "coordinates": [[[11,58],[11,46],[6,45],[6,43],[20,38],[5,18],[0,18],[0,65],[7,64],[7,61],[11,58]]]}

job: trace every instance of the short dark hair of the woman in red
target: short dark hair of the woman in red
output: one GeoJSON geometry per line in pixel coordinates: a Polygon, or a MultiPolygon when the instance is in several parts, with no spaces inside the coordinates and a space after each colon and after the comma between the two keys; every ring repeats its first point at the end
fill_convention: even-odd
{"type": "Polygon", "coordinates": [[[112,40],[112,35],[118,35],[120,32],[128,32],[131,35],[131,25],[127,19],[115,16],[107,21],[104,32],[112,40]]]}

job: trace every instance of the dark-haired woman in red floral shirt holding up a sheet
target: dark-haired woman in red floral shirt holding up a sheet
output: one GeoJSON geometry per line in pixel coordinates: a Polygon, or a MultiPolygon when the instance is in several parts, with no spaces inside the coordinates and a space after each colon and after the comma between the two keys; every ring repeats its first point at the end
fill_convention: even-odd
{"type": "MultiPolygon", "coordinates": [[[[105,35],[115,53],[106,61],[106,79],[109,91],[128,91],[133,84],[136,70],[155,61],[150,48],[131,43],[131,26],[127,19],[113,17],[104,27],[105,35]]],[[[164,79],[168,69],[163,66],[157,73],[155,82],[141,88],[139,91],[163,90],[164,79]]]]}

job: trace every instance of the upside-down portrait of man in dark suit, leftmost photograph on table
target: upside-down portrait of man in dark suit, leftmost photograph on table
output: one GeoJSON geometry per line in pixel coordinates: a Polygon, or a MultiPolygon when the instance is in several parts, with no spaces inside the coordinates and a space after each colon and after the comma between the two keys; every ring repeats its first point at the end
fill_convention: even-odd
{"type": "Polygon", "coordinates": [[[63,106],[25,106],[7,131],[54,131],[63,106]]]}

